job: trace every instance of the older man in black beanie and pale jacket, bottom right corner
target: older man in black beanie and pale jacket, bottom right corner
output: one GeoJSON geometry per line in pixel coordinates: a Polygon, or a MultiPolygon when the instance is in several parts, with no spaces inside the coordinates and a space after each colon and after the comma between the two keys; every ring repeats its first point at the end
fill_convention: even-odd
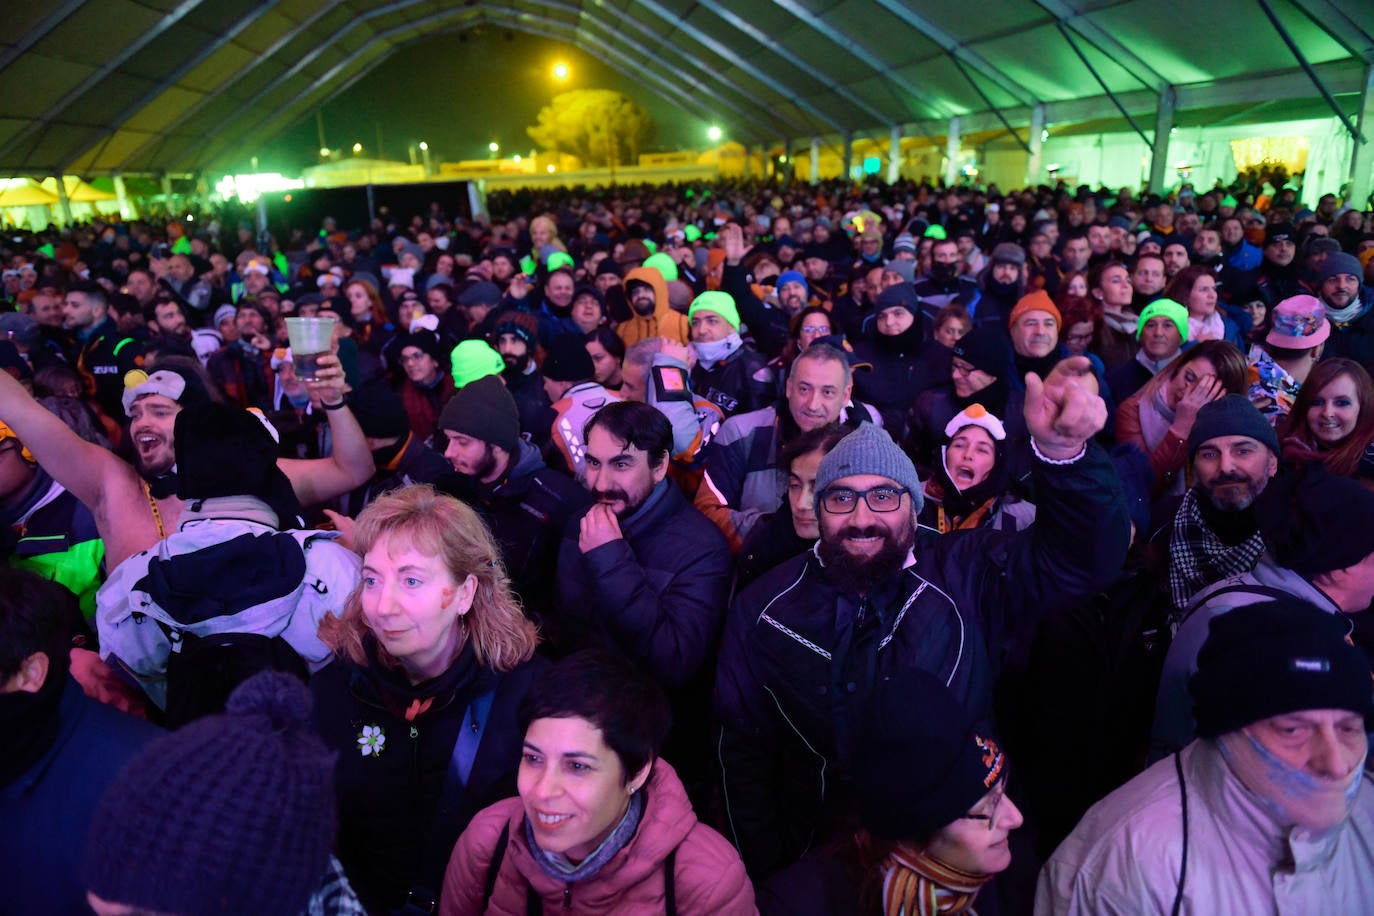
{"type": "Polygon", "coordinates": [[[1374,705],[1347,629],[1289,596],[1213,619],[1190,681],[1197,740],[1084,816],[1040,875],[1037,916],[1367,906],[1374,705]]]}

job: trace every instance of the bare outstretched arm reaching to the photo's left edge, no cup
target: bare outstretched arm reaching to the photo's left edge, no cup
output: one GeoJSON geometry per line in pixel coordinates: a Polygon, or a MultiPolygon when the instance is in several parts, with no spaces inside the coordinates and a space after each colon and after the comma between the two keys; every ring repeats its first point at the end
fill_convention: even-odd
{"type": "Polygon", "coordinates": [[[73,433],[8,372],[0,372],[0,422],[14,430],[52,479],[92,512],[98,512],[115,479],[133,472],[113,452],[73,433]]]}

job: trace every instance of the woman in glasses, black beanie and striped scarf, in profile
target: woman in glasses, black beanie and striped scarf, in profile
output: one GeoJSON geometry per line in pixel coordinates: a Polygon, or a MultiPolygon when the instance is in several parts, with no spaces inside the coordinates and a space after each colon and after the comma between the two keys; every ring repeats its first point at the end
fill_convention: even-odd
{"type": "Polygon", "coordinates": [[[1007,761],[954,694],[921,669],[881,681],[853,748],[857,827],[760,890],[758,912],[988,912],[1021,810],[1007,761]]]}

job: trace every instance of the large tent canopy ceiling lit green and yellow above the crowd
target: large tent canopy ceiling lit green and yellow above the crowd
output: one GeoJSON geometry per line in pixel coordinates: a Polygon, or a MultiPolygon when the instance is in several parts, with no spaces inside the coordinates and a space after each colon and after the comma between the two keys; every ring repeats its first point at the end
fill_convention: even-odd
{"type": "MultiPolygon", "coordinates": [[[[1055,121],[1116,117],[1103,88],[1135,115],[1149,115],[1171,87],[1180,111],[1320,98],[1249,0],[10,5],[0,40],[0,170],[10,174],[212,168],[250,137],[271,140],[407,44],[475,27],[566,41],[752,143],[893,125],[927,132],[991,108],[1025,126],[1037,103],[1055,121]]],[[[1374,4],[1271,5],[1353,111],[1374,60],[1374,4]]]]}

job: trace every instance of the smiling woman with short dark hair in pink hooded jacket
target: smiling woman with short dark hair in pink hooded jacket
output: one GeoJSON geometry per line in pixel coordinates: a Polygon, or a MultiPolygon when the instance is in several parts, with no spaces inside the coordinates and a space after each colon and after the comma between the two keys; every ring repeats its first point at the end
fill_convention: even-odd
{"type": "Polygon", "coordinates": [[[481,812],[444,875],[441,916],[756,913],[745,865],[658,759],[668,700],[632,665],[577,652],[521,702],[519,798],[481,812]]]}

